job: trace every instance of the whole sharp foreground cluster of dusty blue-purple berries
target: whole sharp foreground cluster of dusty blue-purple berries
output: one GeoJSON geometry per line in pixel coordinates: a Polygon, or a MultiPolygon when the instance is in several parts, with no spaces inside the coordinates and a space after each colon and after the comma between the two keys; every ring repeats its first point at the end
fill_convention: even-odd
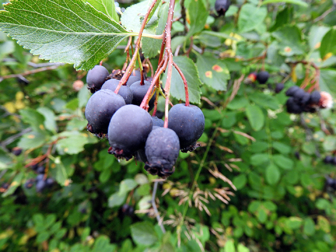
{"type": "MultiPolygon", "coordinates": [[[[85,108],[87,130],[109,140],[109,153],[117,158],[137,157],[151,174],[167,177],[174,171],[179,150],[193,151],[201,137],[205,118],[194,105],[176,104],[168,112],[168,128],[164,121],[152,117],[139,107],[150,82],[129,77],[118,94],[118,79],[109,79],[108,71],[95,66],[87,73],[88,88],[94,91],[85,108]]],[[[111,76],[110,76],[111,77],[111,76]]],[[[155,96],[149,101],[154,107],[155,96]]]]}

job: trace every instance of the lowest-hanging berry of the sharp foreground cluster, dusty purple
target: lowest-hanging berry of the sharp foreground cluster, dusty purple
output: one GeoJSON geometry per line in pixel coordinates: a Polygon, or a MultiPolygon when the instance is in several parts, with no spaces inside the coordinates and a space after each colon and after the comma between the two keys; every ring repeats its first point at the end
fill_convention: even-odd
{"type": "Polygon", "coordinates": [[[146,140],[145,151],[148,161],[145,169],[160,177],[171,175],[179,150],[179,139],[174,130],[164,127],[153,129],[146,140]]]}

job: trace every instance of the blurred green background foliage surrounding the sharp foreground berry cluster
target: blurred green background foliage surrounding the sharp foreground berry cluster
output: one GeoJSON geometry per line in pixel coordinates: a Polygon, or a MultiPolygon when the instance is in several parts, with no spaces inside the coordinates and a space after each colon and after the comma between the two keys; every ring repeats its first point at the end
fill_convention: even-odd
{"type": "MultiPolygon", "coordinates": [[[[86,130],[86,72],[42,61],[0,33],[1,251],[336,251],[335,187],[326,185],[335,165],[323,163],[336,150],[335,107],[302,115],[284,107],[286,89],[317,74],[304,61],[336,97],[335,2],[260,2],[237,0],[216,17],[214,1],[204,0],[209,16],[188,53],[204,83],[206,127],[201,147],[180,153],[159,184],[166,233],[151,204],[157,177],[140,162],[116,160],[86,130]],[[209,81],[207,64],[230,76],[211,70],[209,81]],[[270,73],[266,84],[242,82],[260,69],[270,73]],[[56,181],[42,192],[27,188],[35,163],[56,181]]],[[[173,24],[180,54],[190,46],[183,30],[173,24]]],[[[122,68],[125,45],[104,60],[110,72],[122,68]]]]}

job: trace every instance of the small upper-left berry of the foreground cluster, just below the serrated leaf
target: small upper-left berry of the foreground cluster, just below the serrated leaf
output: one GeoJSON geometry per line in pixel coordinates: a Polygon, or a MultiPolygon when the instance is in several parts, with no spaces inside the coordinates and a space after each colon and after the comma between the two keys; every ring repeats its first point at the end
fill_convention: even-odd
{"type": "Polygon", "coordinates": [[[91,93],[98,91],[108,76],[109,71],[107,71],[105,67],[99,65],[94,66],[86,75],[87,88],[91,93]]]}

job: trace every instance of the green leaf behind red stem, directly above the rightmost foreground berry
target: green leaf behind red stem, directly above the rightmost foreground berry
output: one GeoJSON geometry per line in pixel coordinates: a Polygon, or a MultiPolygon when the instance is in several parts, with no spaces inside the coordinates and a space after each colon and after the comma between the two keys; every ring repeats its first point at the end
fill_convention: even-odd
{"type": "MultiPolygon", "coordinates": [[[[185,79],[188,83],[188,91],[189,91],[189,101],[191,103],[200,103],[201,102],[201,89],[200,85],[202,85],[199,77],[198,70],[195,66],[195,63],[185,56],[177,56],[174,57],[174,62],[181,69],[184,74],[185,79]]],[[[166,84],[167,80],[167,72],[163,76],[163,83],[166,84]]],[[[185,91],[184,84],[181,76],[177,72],[177,70],[173,67],[171,74],[171,84],[170,84],[170,94],[178,100],[185,101],[185,91]]]]}

